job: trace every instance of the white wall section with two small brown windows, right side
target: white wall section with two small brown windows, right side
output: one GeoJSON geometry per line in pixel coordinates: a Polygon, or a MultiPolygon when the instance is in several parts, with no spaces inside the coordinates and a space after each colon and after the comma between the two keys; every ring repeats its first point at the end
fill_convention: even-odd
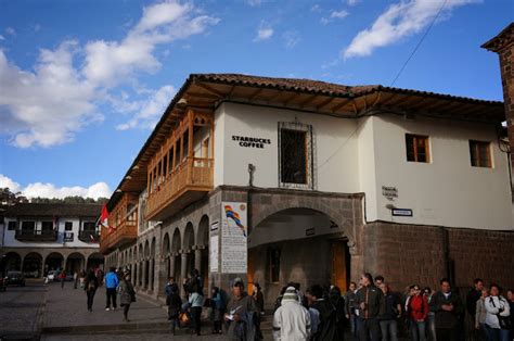
{"type": "MultiPolygon", "coordinates": [[[[369,220],[513,229],[507,160],[494,126],[395,115],[368,119],[373,127],[376,181],[376,216],[369,212],[369,220]],[[406,134],[429,137],[429,163],[407,161],[406,134]],[[492,168],[471,165],[470,140],[491,142],[492,168]],[[398,198],[387,200],[382,186],[396,187],[398,198]],[[411,209],[413,217],[391,217],[387,204],[411,209]]],[[[369,195],[367,203],[371,200],[369,195]]]]}

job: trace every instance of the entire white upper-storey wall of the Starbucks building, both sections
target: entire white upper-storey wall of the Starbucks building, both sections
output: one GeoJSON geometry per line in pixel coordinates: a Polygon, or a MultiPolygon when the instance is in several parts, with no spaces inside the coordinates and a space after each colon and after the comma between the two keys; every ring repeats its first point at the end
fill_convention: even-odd
{"type": "Polygon", "coordinates": [[[215,113],[215,187],[247,186],[253,164],[254,186],[278,188],[280,122],[312,125],[314,190],[365,193],[367,222],[513,229],[509,163],[488,124],[390,114],[357,121],[226,102],[215,113]],[[406,134],[429,137],[429,163],[407,161],[406,134]],[[241,147],[233,136],[271,143],[241,147]],[[470,140],[490,142],[492,168],[471,165],[470,140]],[[383,186],[396,188],[398,198],[385,198],[383,186]],[[413,216],[393,217],[391,205],[413,216]]]}

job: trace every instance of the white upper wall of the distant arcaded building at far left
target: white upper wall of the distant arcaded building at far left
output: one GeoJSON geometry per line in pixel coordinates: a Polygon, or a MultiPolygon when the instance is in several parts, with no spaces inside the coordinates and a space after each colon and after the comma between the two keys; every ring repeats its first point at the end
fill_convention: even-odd
{"type": "MultiPolygon", "coordinates": [[[[21,218],[20,226],[24,220],[36,222],[36,230],[41,229],[41,219],[33,218],[21,218]]],[[[48,219],[44,219],[48,222],[48,219]]],[[[60,217],[57,223],[57,239],[52,242],[48,241],[20,241],[15,238],[15,230],[10,230],[8,228],[9,222],[16,222],[16,217],[5,217],[4,219],[4,233],[3,233],[3,247],[4,248],[86,248],[86,249],[98,249],[99,243],[95,242],[83,242],[78,239],[79,231],[82,230],[83,223],[95,223],[94,220],[80,220],[79,217],[60,217]],[[65,224],[72,223],[72,230],[65,231],[65,224]],[[73,241],[64,242],[64,232],[73,232],[73,241]]]]}

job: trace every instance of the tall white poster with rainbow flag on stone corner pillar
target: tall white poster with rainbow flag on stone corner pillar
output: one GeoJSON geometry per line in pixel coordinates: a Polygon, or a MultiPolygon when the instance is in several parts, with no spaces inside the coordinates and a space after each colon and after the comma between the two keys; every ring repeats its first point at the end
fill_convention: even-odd
{"type": "Polygon", "coordinates": [[[245,202],[221,203],[221,273],[246,274],[248,227],[245,202]]]}

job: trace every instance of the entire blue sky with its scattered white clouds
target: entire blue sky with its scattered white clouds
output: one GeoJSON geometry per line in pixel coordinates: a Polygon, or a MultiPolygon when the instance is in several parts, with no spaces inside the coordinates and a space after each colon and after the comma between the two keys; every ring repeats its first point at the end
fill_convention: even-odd
{"type": "Polygon", "coordinates": [[[0,0],[0,187],[110,195],[191,73],[390,86],[436,16],[394,86],[502,100],[511,0],[0,0]]]}

